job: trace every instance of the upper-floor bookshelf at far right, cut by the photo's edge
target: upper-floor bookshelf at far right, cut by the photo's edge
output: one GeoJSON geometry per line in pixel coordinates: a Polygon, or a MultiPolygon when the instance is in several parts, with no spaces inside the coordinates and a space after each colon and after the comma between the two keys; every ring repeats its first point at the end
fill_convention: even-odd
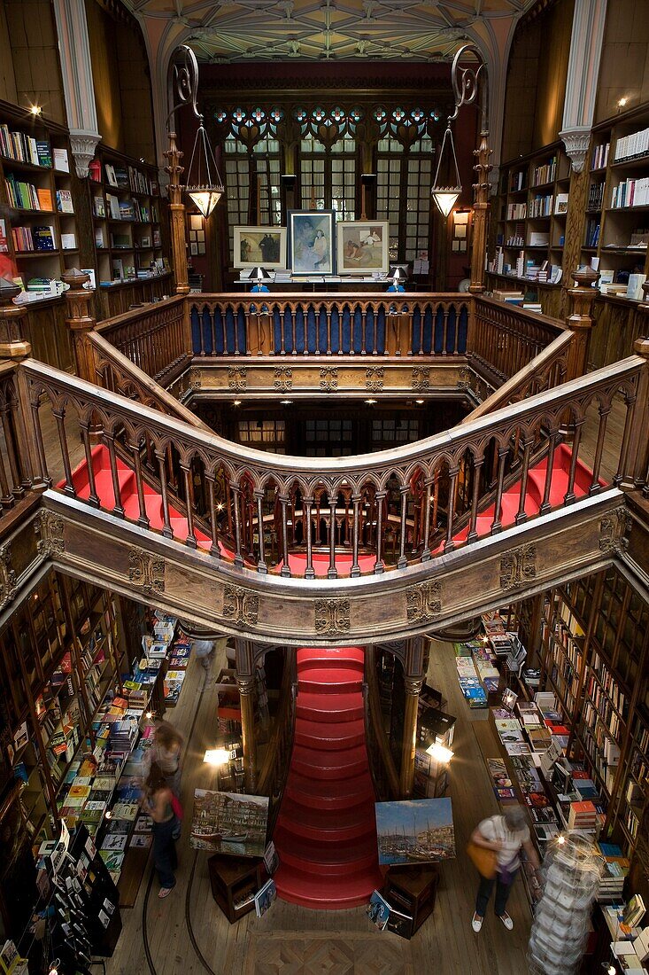
{"type": "MultiPolygon", "coordinates": [[[[646,106],[609,119],[593,130],[590,166],[582,262],[599,257],[602,282],[626,285],[630,274],[646,275],[649,271],[646,106]]],[[[618,297],[626,297],[626,289],[618,297]]]]}

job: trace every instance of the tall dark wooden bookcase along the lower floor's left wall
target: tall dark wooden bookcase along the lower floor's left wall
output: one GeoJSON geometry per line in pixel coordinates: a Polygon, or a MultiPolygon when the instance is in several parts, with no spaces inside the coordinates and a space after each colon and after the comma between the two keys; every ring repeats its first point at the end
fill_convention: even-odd
{"type": "Polygon", "coordinates": [[[117,613],[109,592],[51,571],[0,633],[0,775],[21,783],[32,843],[52,836],[65,775],[94,746],[98,704],[128,670],[117,613]]]}

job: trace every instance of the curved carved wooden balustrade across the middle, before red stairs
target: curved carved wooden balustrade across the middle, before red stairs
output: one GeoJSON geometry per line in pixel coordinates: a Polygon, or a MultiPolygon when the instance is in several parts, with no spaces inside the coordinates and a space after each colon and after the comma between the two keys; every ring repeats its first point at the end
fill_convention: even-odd
{"type": "Polygon", "coordinates": [[[515,415],[498,409],[415,444],[347,458],[263,453],[33,360],[19,369],[26,377],[32,409],[34,466],[46,482],[48,465],[57,464],[65,472],[57,489],[77,497],[66,439],[70,424],[72,430],[76,424],[91,472],[86,503],[124,518],[117,438],[132,457],[139,507],[134,521],[146,530],[158,530],[151,526],[144,500],[142,455],[147,445],[160,478],[162,534],[173,536],[170,493],[176,489],[186,503],[185,544],[200,546],[213,559],[260,573],[336,579],[436,559],[501,531],[503,494],[515,485],[515,525],[521,525],[533,517],[525,510],[528,478],[544,455],[548,461],[540,514],[567,507],[576,500],[578,458],[587,424],[593,425],[596,445],[589,495],[611,483],[643,483],[646,471],[644,434],[634,424],[646,415],[646,370],[639,356],[529,397],[518,404],[515,415]],[[611,403],[618,393],[626,404],[620,436],[607,431],[611,403]],[[44,397],[52,404],[58,429],[58,444],[47,450],[38,416],[44,397]],[[589,411],[590,407],[594,409],[589,411]],[[110,458],[114,500],[109,504],[94,484],[91,418],[95,441],[105,446],[110,458]],[[609,457],[615,457],[611,476],[602,470],[605,441],[609,457]],[[563,443],[571,446],[572,453],[566,489],[557,498],[551,497],[552,471],[554,453],[563,443]],[[166,463],[169,451],[175,458],[172,475],[166,463]],[[172,477],[177,483],[172,483],[172,477]],[[485,510],[491,514],[482,515],[478,523],[485,510]],[[202,516],[201,530],[197,515],[202,516]],[[268,544],[271,527],[275,552],[268,544]]]}

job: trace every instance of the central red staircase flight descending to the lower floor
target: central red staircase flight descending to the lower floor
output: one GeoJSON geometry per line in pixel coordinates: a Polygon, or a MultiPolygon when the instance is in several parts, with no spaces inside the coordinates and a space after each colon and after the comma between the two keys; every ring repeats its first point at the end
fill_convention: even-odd
{"type": "Polygon", "coordinates": [[[277,891],[292,904],[352,908],[383,882],[362,685],[359,647],[297,651],[295,739],[273,837],[277,891]]]}

